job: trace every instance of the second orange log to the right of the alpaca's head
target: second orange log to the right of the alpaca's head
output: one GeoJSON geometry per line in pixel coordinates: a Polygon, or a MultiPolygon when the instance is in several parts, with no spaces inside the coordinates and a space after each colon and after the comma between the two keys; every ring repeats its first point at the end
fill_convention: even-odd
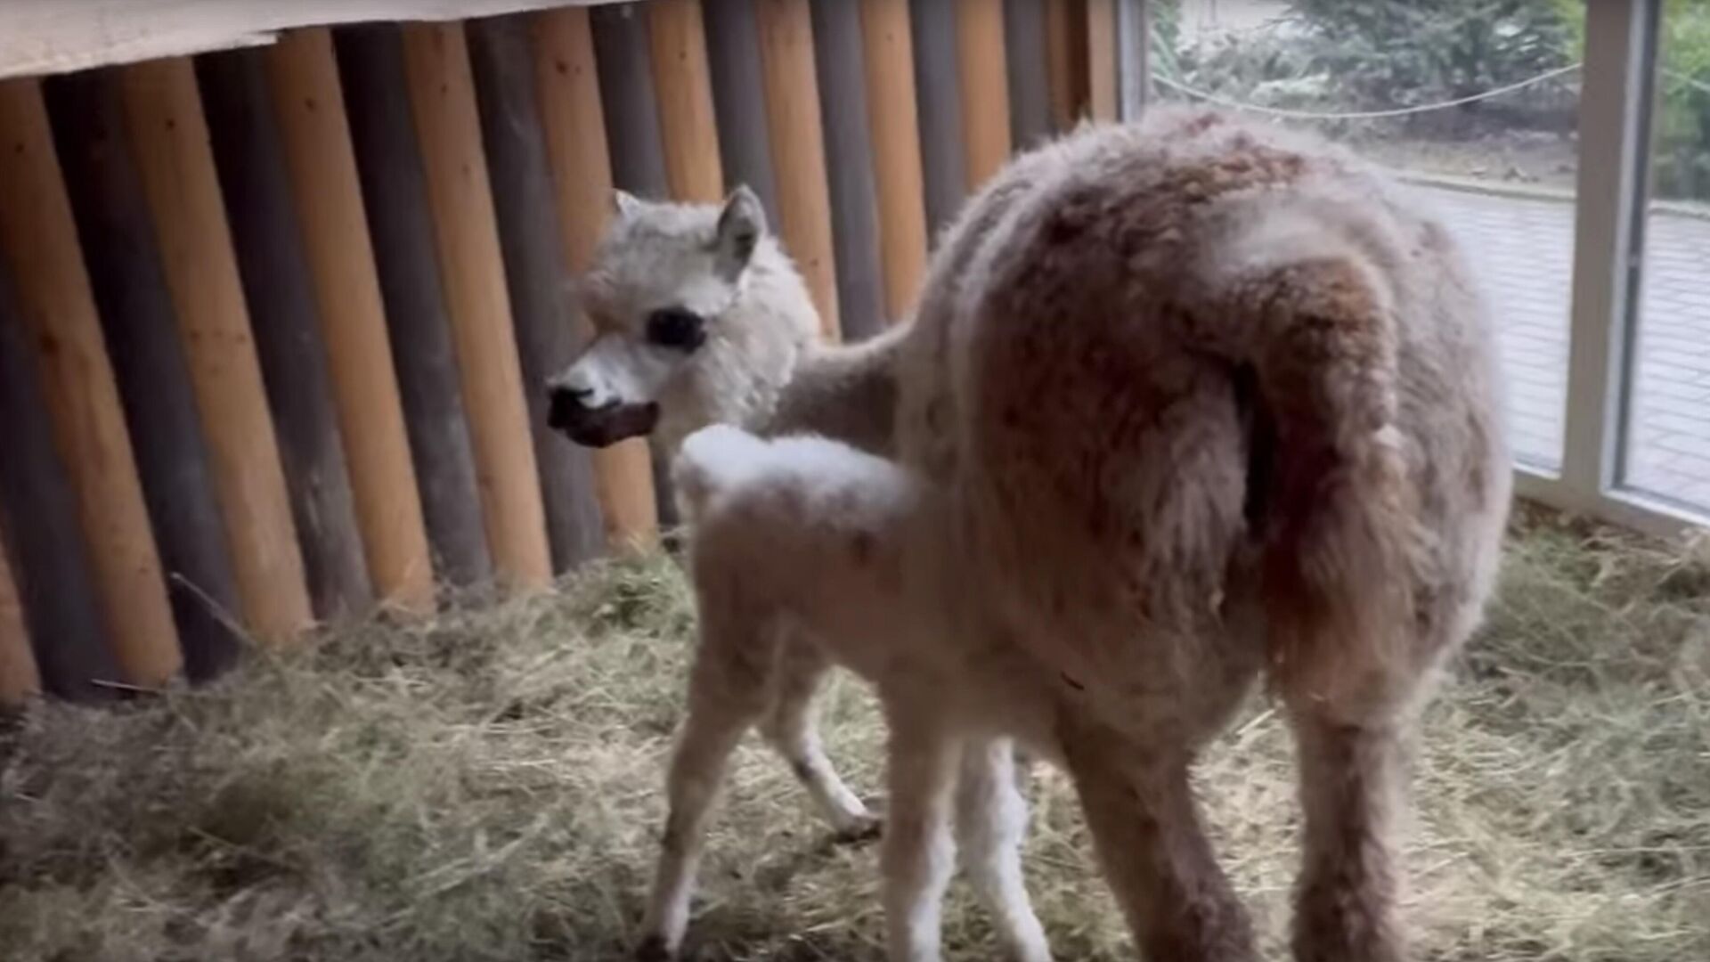
{"type": "Polygon", "coordinates": [[[884,310],[908,317],[927,269],[927,209],[920,171],[920,118],[915,104],[915,45],[908,0],[860,0],[867,125],[879,195],[879,250],[884,257],[884,310]]]}

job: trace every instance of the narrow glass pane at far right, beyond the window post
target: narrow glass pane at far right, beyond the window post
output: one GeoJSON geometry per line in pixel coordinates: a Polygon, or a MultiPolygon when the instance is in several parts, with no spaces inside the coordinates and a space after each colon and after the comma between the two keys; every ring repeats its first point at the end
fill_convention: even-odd
{"type": "Polygon", "coordinates": [[[1623,483],[1710,510],[1710,0],[1666,0],[1623,483]]]}

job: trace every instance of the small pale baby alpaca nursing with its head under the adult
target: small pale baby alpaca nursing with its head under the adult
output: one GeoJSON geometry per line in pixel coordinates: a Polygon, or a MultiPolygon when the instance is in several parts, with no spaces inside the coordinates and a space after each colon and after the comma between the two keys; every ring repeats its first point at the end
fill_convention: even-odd
{"type": "Polygon", "coordinates": [[[670,959],[682,943],[708,808],[730,751],[775,697],[780,656],[802,647],[780,644],[790,637],[872,681],[884,704],[891,959],[939,957],[954,808],[964,868],[1005,948],[1048,960],[1021,878],[1026,801],[1009,739],[1047,743],[1053,705],[1026,656],[968,630],[975,608],[940,556],[934,493],[840,442],[761,440],[730,426],[691,435],[674,481],[693,529],[701,640],[640,955],[670,959]]]}

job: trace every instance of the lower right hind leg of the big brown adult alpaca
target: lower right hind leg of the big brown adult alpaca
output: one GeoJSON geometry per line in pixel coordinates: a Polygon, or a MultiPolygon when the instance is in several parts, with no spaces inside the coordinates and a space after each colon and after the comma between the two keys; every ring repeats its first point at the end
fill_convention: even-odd
{"type": "Polygon", "coordinates": [[[1296,712],[1305,864],[1296,894],[1300,962],[1400,962],[1399,871],[1392,822],[1400,808],[1404,734],[1296,712]]]}

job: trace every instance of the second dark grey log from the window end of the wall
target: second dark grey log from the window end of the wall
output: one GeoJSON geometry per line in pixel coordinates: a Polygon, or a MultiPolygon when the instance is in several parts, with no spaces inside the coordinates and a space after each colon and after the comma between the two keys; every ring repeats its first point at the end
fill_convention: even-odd
{"type": "MultiPolygon", "coordinates": [[[[920,166],[925,183],[927,228],[937,233],[968,195],[963,144],[961,80],[956,70],[958,0],[908,3],[918,92],[920,166]]],[[[894,70],[896,65],[887,68],[894,70]]]]}

